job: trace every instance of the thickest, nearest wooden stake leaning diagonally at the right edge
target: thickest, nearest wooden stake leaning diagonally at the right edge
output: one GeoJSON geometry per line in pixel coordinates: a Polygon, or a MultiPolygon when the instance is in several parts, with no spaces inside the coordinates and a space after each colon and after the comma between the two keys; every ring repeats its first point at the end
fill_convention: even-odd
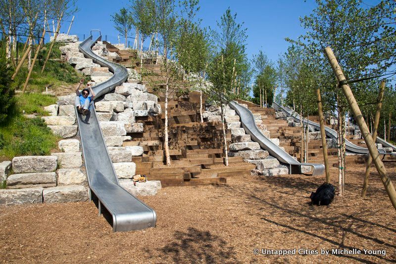
{"type": "MultiPolygon", "coordinates": [[[[329,60],[329,63],[337,77],[337,81],[342,83],[346,81],[343,71],[341,70],[340,65],[336,57],[334,56],[333,50],[330,47],[326,47],[324,53],[329,60]]],[[[396,191],[395,187],[392,184],[391,179],[389,178],[387,171],[385,169],[384,163],[381,161],[380,155],[378,153],[377,147],[374,144],[373,138],[370,136],[366,123],[364,122],[363,115],[360,111],[359,105],[356,102],[355,97],[349,86],[347,84],[342,84],[341,88],[344,92],[344,95],[347,98],[350,109],[352,110],[353,116],[356,120],[357,125],[359,126],[360,131],[362,132],[364,142],[366,142],[367,148],[370,152],[370,155],[373,157],[373,161],[377,171],[381,177],[382,183],[384,184],[385,190],[388,193],[389,199],[393,207],[396,210],[396,191]]]]}

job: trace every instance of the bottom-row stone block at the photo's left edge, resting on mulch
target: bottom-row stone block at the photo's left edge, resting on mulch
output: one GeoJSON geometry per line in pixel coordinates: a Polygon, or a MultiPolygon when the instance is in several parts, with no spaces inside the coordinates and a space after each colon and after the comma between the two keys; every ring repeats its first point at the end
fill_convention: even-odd
{"type": "Polygon", "coordinates": [[[1,205],[41,204],[43,203],[42,187],[24,189],[0,189],[1,205]]]}

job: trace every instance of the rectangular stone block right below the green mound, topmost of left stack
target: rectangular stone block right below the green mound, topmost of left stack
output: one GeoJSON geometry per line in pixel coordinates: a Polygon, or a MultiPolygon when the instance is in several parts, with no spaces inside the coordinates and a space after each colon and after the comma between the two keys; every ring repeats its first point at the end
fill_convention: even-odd
{"type": "Polygon", "coordinates": [[[14,173],[48,173],[57,167],[57,157],[54,156],[22,156],[12,159],[14,173]]]}

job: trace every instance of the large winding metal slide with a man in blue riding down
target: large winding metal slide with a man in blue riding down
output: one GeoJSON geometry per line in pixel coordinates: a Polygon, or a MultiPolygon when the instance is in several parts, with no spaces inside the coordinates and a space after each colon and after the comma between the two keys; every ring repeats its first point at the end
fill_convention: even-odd
{"type": "MultiPolygon", "coordinates": [[[[97,98],[119,86],[128,78],[128,72],[124,67],[108,62],[92,52],[91,47],[100,39],[99,35],[96,40],[93,40],[91,31],[91,36],[79,45],[79,50],[86,57],[92,58],[95,63],[103,67],[108,67],[114,74],[109,80],[93,88],[97,98]]],[[[154,227],[156,222],[154,210],[128,193],[118,183],[100,130],[94,104],[91,104],[91,110],[87,116],[82,116],[77,110],[76,115],[87,170],[90,199],[98,198],[99,215],[101,207],[104,206],[112,216],[113,231],[154,227]]]]}

